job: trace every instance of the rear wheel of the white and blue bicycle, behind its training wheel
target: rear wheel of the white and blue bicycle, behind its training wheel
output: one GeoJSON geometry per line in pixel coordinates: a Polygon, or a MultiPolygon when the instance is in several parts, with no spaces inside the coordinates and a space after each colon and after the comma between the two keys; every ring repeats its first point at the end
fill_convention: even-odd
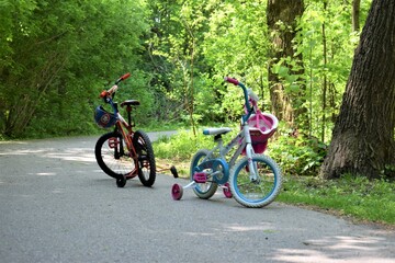
{"type": "MultiPolygon", "coordinates": [[[[193,156],[192,158],[192,161],[191,161],[191,168],[190,168],[190,179],[191,181],[194,181],[193,180],[193,174],[194,174],[194,170],[195,170],[195,167],[199,165],[199,163],[206,157],[208,156],[210,151],[206,150],[206,149],[201,149],[201,150],[198,150],[196,153],[193,156]]],[[[212,170],[212,169],[208,169],[208,170],[212,170]]],[[[213,179],[212,179],[213,180],[213,179]]],[[[212,181],[208,179],[207,182],[205,183],[196,183],[195,186],[193,187],[193,192],[195,193],[195,195],[202,199],[208,199],[211,198],[217,187],[218,187],[218,184],[215,183],[214,181],[212,181]]]]}

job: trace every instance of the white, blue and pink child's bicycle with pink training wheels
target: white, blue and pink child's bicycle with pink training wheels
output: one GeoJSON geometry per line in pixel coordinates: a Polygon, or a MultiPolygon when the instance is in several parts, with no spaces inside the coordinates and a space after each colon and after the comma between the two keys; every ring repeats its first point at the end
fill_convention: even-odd
{"type": "MultiPolygon", "coordinates": [[[[238,85],[244,91],[245,114],[241,117],[240,133],[224,146],[222,136],[232,129],[207,128],[204,135],[213,135],[216,146],[199,150],[192,158],[191,182],[185,186],[173,184],[171,195],[179,201],[184,188],[193,188],[203,199],[211,198],[217,187],[223,188],[226,197],[234,197],[246,207],[263,207],[279,195],[282,173],[273,159],[264,156],[268,139],[275,133],[278,118],[258,108],[258,96],[236,79],[225,81],[238,85]],[[237,146],[227,162],[225,157],[237,146]],[[238,160],[238,157],[242,157],[238,160]]],[[[174,173],[173,173],[174,174],[174,173]]]]}

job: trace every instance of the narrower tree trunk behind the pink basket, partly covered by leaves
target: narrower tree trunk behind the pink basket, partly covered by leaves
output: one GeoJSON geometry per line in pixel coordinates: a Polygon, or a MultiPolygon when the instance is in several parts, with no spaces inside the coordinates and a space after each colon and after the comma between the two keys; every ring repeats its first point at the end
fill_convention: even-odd
{"type": "MultiPolygon", "coordinates": [[[[271,57],[273,58],[269,62],[270,100],[272,111],[278,118],[290,124],[293,124],[295,118],[292,106],[293,100],[285,93],[281,79],[271,71],[271,67],[280,61],[281,58],[294,58],[292,41],[296,35],[296,19],[303,12],[303,0],[268,0],[267,18],[269,33],[272,36],[271,57]]],[[[302,61],[301,55],[298,59],[302,61]]],[[[285,66],[292,68],[289,65],[285,66]]]]}

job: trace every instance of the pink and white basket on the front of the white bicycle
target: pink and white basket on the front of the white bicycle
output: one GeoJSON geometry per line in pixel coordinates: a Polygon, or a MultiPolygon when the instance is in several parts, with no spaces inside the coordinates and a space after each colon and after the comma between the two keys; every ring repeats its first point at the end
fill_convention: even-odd
{"type": "MultiPolygon", "coordinates": [[[[270,113],[261,113],[258,110],[256,114],[250,116],[247,123],[251,135],[253,151],[256,153],[262,153],[268,146],[268,139],[276,130],[279,119],[270,113]]],[[[242,150],[242,155],[245,153],[245,150],[242,150]]]]}

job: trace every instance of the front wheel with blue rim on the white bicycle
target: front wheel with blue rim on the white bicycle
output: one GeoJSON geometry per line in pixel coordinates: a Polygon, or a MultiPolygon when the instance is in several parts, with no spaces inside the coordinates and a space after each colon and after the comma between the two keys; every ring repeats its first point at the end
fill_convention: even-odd
{"type": "Polygon", "coordinates": [[[230,171],[230,192],[235,199],[246,207],[263,207],[279,195],[282,174],[279,165],[270,157],[253,155],[256,178],[248,168],[248,158],[238,161],[230,171]]]}

